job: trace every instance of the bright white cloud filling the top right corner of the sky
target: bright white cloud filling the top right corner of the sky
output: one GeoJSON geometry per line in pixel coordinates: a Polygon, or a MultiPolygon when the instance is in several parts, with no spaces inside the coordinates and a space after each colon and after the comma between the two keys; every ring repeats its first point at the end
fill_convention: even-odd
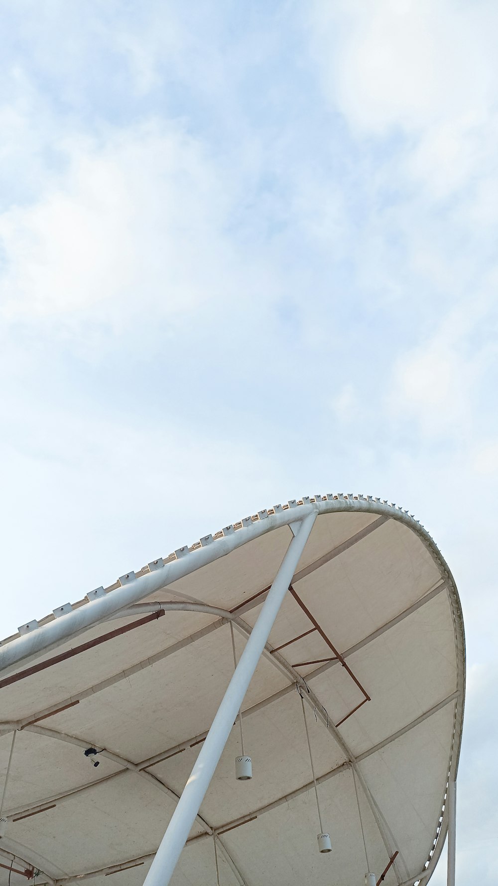
{"type": "MultiPolygon", "coordinates": [[[[356,136],[408,139],[393,183],[422,184],[431,202],[459,189],[468,199],[480,180],[496,191],[496,27],[490,0],[314,0],[311,41],[333,106],[356,136]]],[[[496,221],[494,201],[484,203],[496,221]]]]}

